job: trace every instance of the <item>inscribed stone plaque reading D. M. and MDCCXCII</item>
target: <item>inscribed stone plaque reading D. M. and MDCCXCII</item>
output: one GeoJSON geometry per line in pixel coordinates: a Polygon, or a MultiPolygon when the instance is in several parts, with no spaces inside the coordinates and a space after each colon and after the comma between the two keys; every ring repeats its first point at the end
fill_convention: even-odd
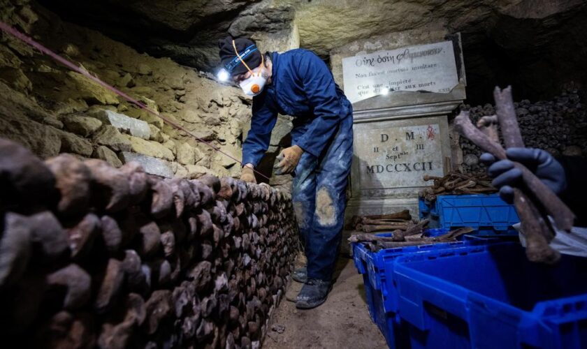
{"type": "Polygon", "coordinates": [[[352,186],[368,197],[416,195],[424,174],[446,172],[449,148],[446,116],[355,124],[352,186]]]}

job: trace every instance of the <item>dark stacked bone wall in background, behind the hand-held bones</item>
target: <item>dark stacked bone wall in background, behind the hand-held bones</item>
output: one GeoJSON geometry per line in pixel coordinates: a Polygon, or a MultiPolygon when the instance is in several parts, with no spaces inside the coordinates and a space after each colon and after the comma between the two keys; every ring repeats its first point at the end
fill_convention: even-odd
{"type": "MultiPolygon", "coordinates": [[[[587,155],[587,109],[581,103],[579,91],[568,89],[551,101],[514,103],[520,131],[527,147],[540,148],[554,156],[560,154],[587,155]]],[[[481,117],[495,114],[491,104],[471,107],[464,105],[473,123],[481,117]]],[[[459,140],[463,149],[463,172],[481,172],[481,149],[467,138],[459,140]]]]}

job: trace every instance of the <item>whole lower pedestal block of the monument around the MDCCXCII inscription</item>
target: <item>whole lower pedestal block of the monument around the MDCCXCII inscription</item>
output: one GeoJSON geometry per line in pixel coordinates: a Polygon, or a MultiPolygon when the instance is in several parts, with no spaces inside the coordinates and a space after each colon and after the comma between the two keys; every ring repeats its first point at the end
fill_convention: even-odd
{"type": "MultiPolygon", "coordinates": [[[[406,114],[413,112],[405,108],[406,114]]],[[[375,113],[371,111],[368,113],[375,113]]],[[[417,214],[423,176],[451,168],[447,115],[382,117],[353,126],[354,158],[347,217],[410,209],[417,214]]]]}

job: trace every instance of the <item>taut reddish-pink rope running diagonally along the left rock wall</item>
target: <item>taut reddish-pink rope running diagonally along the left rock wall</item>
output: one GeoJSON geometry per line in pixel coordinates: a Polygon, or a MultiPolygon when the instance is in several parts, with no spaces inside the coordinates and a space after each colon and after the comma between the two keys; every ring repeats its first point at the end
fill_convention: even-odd
{"type": "MultiPolygon", "coordinates": [[[[59,63],[63,64],[64,66],[66,66],[68,68],[70,68],[71,70],[75,71],[76,73],[80,73],[80,74],[84,75],[85,77],[89,78],[90,80],[96,82],[96,84],[99,84],[102,87],[105,87],[106,89],[109,89],[110,91],[113,91],[118,96],[121,96],[122,98],[126,99],[126,101],[129,101],[130,103],[133,103],[137,107],[140,107],[141,109],[145,110],[146,112],[148,112],[150,114],[153,114],[156,117],[160,117],[167,124],[169,124],[169,125],[177,128],[178,130],[184,131],[188,135],[191,135],[191,137],[193,137],[193,138],[196,138],[196,140],[198,140],[198,142],[201,142],[203,144],[206,144],[206,145],[208,145],[208,147],[214,149],[215,151],[218,151],[220,154],[224,154],[225,156],[228,156],[232,160],[236,161],[237,163],[240,163],[240,165],[244,165],[242,163],[242,161],[238,160],[238,158],[235,158],[235,157],[231,156],[230,154],[226,154],[226,152],[220,150],[220,148],[215,147],[211,143],[206,142],[205,140],[199,138],[197,135],[194,135],[194,133],[191,133],[191,131],[187,130],[183,126],[181,126],[179,124],[175,124],[175,122],[171,121],[170,119],[167,119],[163,115],[161,115],[158,112],[152,110],[150,107],[147,107],[147,105],[144,105],[143,103],[140,103],[140,101],[137,101],[136,99],[132,98],[131,96],[129,96],[127,94],[125,94],[124,92],[120,91],[119,89],[116,89],[115,87],[110,86],[109,84],[106,84],[106,82],[103,82],[98,77],[95,77],[94,75],[90,74],[87,70],[84,70],[84,69],[76,66],[75,64],[71,63],[71,61],[68,61],[67,59],[64,59],[63,57],[59,56],[59,54],[57,54],[55,52],[52,52],[47,47],[41,45],[40,43],[37,43],[32,38],[29,38],[29,36],[26,36],[26,35],[22,34],[20,31],[17,31],[13,27],[10,27],[8,24],[0,21],[0,29],[2,31],[4,31],[5,33],[10,34],[10,35],[14,36],[15,38],[21,40],[22,42],[27,43],[28,45],[31,45],[32,47],[34,47],[37,50],[41,51],[43,54],[47,54],[52,59],[55,59],[55,61],[58,61],[59,63]]],[[[266,178],[266,179],[269,179],[269,177],[267,177],[265,174],[262,174],[261,172],[259,172],[257,170],[254,170],[254,169],[253,169],[253,171],[256,172],[257,174],[259,174],[261,177],[266,178]]]]}

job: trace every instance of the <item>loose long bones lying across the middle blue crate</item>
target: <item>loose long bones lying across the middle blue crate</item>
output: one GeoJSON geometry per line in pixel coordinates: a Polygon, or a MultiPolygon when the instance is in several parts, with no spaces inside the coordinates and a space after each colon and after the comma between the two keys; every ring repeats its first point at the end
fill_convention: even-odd
{"type": "Polygon", "coordinates": [[[407,230],[393,230],[391,236],[358,233],[349,237],[349,242],[363,243],[370,251],[377,252],[384,248],[419,246],[439,244],[443,242],[456,242],[461,235],[473,231],[472,228],[458,228],[438,237],[428,237],[423,228],[428,224],[428,219],[420,221],[407,230]]]}

